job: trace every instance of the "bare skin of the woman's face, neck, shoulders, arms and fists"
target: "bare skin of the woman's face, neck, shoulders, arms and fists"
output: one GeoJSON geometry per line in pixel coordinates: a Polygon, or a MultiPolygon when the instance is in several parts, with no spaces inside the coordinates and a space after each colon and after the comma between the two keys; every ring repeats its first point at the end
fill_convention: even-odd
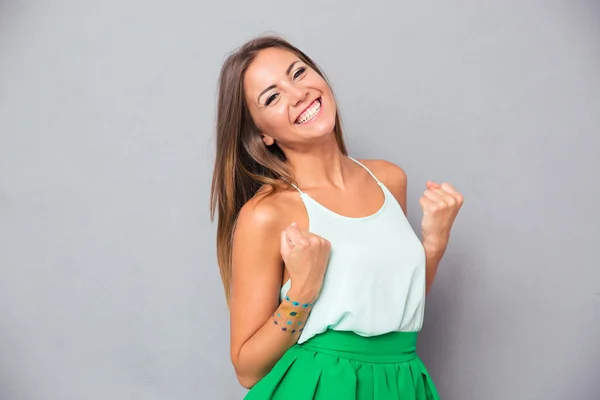
{"type": "MultiPolygon", "coordinates": [[[[304,192],[347,217],[367,216],[381,208],[384,196],[375,180],[339,151],[333,135],[335,100],[318,73],[291,52],[265,49],[248,68],[244,89],[263,142],[267,146],[276,142],[284,150],[304,192]],[[321,99],[319,115],[297,124],[298,116],[316,99],[321,99]]],[[[360,161],[406,213],[404,170],[384,160],[360,161]]],[[[463,198],[448,183],[427,181],[425,186],[420,205],[429,290],[463,198]]],[[[230,349],[237,378],[246,388],[262,379],[298,340],[299,332],[282,332],[272,321],[281,307],[281,286],[291,279],[290,298],[315,301],[331,247],[327,238],[309,232],[296,190],[271,197],[263,193],[260,190],[242,207],[233,237],[230,349]]]]}

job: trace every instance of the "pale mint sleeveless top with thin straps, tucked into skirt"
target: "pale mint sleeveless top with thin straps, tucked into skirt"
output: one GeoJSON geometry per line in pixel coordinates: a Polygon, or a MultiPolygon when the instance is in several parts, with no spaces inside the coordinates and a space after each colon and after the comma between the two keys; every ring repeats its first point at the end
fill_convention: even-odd
{"type": "MultiPolygon", "coordinates": [[[[325,332],[361,336],[421,330],[425,309],[425,251],[400,204],[362,163],[384,194],[366,217],[337,214],[294,187],[306,207],[309,232],[331,242],[323,286],[298,343],[325,332]]],[[[291,286],[281,288],[281,299],[291,286]]]]}

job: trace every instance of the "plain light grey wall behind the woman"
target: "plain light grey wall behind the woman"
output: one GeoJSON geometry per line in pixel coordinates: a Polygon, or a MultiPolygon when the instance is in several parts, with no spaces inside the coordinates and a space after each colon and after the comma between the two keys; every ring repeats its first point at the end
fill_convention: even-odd
{"type": "Polygon", "coordinates": [[[442,399],[599,399],[599,21],[591,0],[0,2],[0,398],[243,396],[216,79],[275,31],[331,78],[351,154],[406,170],[417,231],[427,179],[466,198],[419,344],[442,399]]]}

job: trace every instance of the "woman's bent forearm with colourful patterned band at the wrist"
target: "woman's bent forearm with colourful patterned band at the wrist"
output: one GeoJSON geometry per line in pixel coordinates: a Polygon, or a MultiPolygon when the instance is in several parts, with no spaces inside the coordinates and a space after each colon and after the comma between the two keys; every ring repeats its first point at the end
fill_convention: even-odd
{"type": "Polygon", "coordinates": [[[250,388],[262,379],[296,342],[308,319],[314,296],[290,289],[260,329],[241,347],[234,362],[240,383],[250,388]]]}

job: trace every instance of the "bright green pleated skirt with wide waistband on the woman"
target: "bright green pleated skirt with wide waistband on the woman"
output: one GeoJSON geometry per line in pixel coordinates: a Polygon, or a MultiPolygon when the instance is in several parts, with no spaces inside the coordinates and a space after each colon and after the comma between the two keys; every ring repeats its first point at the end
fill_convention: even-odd
{"type": "Polygon", "coordinates": [[[244,399],[439,400],[417,336],[328,330],[291,347],[244,399]]]}

